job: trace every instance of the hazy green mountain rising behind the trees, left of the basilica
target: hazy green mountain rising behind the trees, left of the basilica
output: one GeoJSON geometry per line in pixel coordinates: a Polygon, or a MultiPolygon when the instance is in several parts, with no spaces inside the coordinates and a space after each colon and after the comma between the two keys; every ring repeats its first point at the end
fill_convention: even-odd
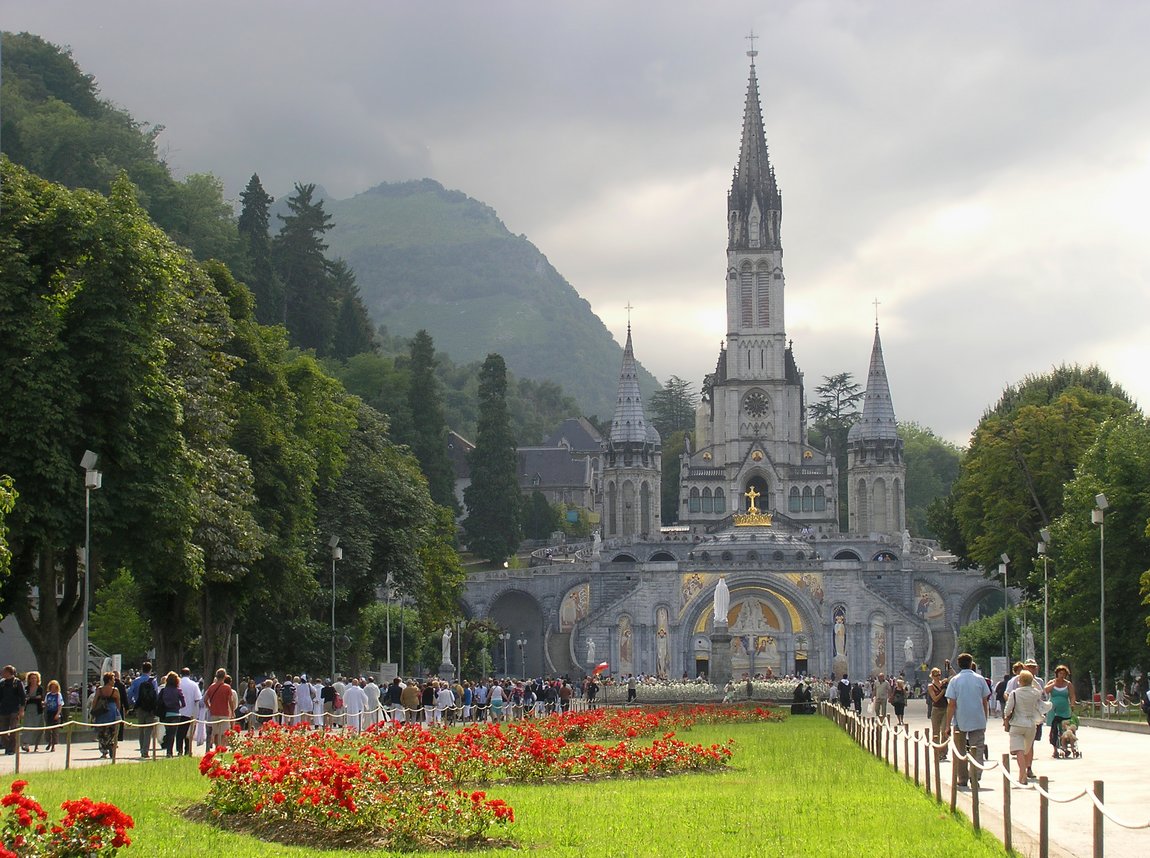
{"type": "MultiPolygon", "coordinates": [[[[460,363],[499,352],[515,375],[562,385],[586,414],[615,411],[622,346],[591,305],[490,207],[425,178],[325,199],[329,256],[355,271],[374,321],[425,328],[460,363]]],[[[658,382],[641,368],[644,397],[658,382]]]]}

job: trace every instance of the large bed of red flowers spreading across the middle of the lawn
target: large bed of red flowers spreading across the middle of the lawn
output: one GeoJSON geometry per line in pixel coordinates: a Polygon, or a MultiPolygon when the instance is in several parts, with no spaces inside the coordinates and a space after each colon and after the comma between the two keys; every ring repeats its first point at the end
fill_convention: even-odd
{"type": "Polygon", "coordinates": [[[386,833],[396,846],[478,842],[514,821],[480,784],[716,769],[726,744],[690,745],[673,729],[697,722],[779,720],[766,710],[595,710],[459,730],[384,726],[367,733],[270,728],[232,734],[200,761],[208,806],[224,814],[386,833]],[[650,742],[635,740],[662,735],[650,742]],[[615,738],[596,744],[580,738],[615,738]]]}

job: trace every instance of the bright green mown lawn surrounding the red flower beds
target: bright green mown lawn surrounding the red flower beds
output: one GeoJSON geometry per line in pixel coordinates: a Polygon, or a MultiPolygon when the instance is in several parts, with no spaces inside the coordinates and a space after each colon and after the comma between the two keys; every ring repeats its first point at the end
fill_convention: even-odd
{"type": "MultiPolygon", "coordinates": [[[[735,758],[721,774],[492,787],[488,792],[515,809],[511,836],[547,856],[1005,855],[994,836],[975,836],[968,823],[951,818],[821,718],[697,726],[681,734],[706,744],[728,736],[736,740],[735,758]]],[[[185,821],[176,811],[201,799],[207,788],[189,759],[37,773],[26,780],[28,792],[49,811],[64,798],[87,795],[131,813],[137,829],[125,858],[208,850],[245,858],[345,855],[261,843],[185,821]]]]}

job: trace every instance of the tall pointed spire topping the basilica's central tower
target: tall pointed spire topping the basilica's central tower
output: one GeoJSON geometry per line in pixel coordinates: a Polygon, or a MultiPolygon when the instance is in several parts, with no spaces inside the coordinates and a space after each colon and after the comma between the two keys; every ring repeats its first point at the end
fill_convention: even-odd
{"type": "Polygon", "coordinates": [[[783,202],[762,127],[759,81],[754,72],[758,51],[749,51],[747,55],[751,58],[751,74],[746,84],[746,105],[743,108],[743,138],[727,198],[730,232],[728,250],[774,250],[780,246],[779,227],[783,202]]]}

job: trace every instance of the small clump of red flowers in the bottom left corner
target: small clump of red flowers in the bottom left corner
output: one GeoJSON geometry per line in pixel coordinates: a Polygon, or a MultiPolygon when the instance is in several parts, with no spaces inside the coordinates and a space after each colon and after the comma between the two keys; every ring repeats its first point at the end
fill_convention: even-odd
{"type": "Polygon", "coordinates": [[[113,856],[131,843],[132,818],[114,804],[78,798],[61,804],[64,818],[49,823],[47,812],[24,795],[28,781],[13,781],[0,798],[0,858],[97,858],[113,856]]]}

